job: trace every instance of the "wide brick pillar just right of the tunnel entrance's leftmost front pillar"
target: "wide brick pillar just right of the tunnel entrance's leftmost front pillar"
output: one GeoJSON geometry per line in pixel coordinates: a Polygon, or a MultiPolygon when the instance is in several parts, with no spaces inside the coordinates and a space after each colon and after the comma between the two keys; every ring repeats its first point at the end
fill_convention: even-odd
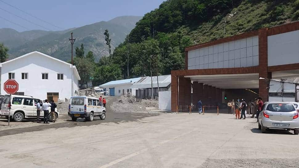
{"type": "Polygon", "coordinates": [[[190,105],[191,104],[191,80],[190,78],[184,78],[179,76],[178,78],[178,105],[190,105]]]}

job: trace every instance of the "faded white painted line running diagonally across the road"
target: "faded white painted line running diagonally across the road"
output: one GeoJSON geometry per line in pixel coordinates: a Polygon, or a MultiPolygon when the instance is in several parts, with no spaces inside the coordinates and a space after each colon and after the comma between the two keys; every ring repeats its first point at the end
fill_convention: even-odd
{"type": "MultiPolygon", "coordinates": [[[[173,141],[173,140],[175,140],[175,139],[177,139],[177,138],[179,138],[179,137],[182,137],[182,136],[184,136],[184,135],[186,135],[186,134],[189,134],[189,133],[191,133],[191,132],[193,132],[193,131],[195,131],[195,130],[197,130],[197,128],[195,128],[195,129],[193,129],[193,130],[191,130],[191,131],[188,131],[188,132],[186,132],[186,133],[183,133],[183,134],[181,134],[181,135],[178,135],[178,136],[176,136],[176,137],[174,137],[174,138],[172,138],[172,139],[162,141],[162,142],[158,143],[157,145],[153,145],[153,146],[151,146],[150,148],[156,148],[156,147],[158,147],[158,146],[160,146],[160,145],[163,145],[163,144],[165,144],[165,143],[167,143],[167,142],[173,141]]],[[[132,157],[134,157],[134,156],[136,156],[136,155],[138,155],[138,154],[141,154],[141,153],[143,153],[143,152],[146,152],[146,151],[149,150],[150,148],[144,148],[143,150],[139,150],[139,151],[137,151],[137,152],[135,152],[135,153],[133,153],[133,154],[129,154],[129,155],[125,156],[125,157],[119,158],[119,159],[117,159],[117,160],[115,160],[115,161],[112,161],[112,162],[110,162],[110,163],[107,163],[107,164],[101,166],[100,168],[107,168],[107,167],[113,166],[113,165],[115,165],[115,164],[117,164],[117,163],[119,163],[119,162],[122,162],[122,161],[126,160],[126,159],[132,158],[132,157]]]]}

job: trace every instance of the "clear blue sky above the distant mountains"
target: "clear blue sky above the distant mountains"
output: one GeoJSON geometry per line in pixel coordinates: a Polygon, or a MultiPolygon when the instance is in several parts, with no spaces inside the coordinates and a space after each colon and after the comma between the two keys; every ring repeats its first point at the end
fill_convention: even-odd
{"type": "Polygon", "coordinates": [[[0,0],[0,28],[12,28],[20,32],[65,30],[108,21],[117,16],[143,16],[158,8],[163,1],[165,0],[0,0]]]}

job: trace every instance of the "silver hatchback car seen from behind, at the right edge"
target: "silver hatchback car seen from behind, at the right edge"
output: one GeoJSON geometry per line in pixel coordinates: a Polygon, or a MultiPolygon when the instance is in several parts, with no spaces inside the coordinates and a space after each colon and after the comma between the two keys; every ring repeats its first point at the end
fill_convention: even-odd
{"type": "Polygon", "coordinates": [[[293,130],[299,134],[299,110],[290,102],[265,102],[259,115],[259,129],[293,130]]]}

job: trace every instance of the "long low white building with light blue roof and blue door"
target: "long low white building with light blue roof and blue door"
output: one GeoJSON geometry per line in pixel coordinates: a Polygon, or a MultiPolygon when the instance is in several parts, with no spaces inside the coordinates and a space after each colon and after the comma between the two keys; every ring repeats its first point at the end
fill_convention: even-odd
{"type": "Polygon", "coordinates": [[[122,94],[127,94],[127,92],[131,92],[132,96],[135,96],[135,90],[132,90],[131,86],[140,79],[141,77],[124,80],[114,80],[105,84],[101,84],[99,87],[106,89],[109,92],[109,96],[121,96],[122,94]]]}

